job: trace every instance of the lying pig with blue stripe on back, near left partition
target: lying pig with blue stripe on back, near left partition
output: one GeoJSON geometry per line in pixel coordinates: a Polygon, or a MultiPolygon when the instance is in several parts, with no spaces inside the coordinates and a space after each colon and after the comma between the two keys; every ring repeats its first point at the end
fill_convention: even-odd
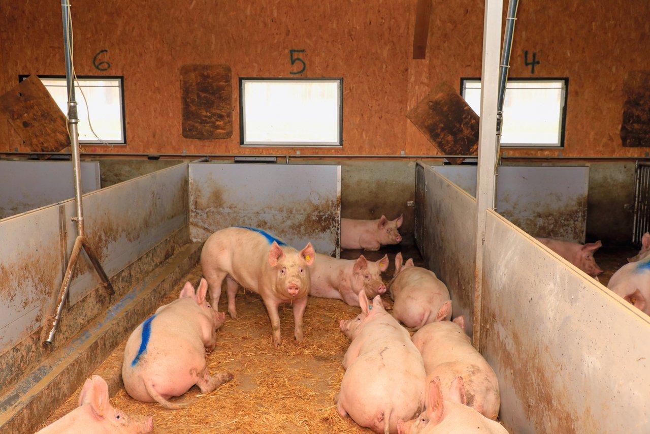
{"type": "Polygon", "coordinates": [[[178,299],[159,307],[131,333],[122,360],[124,388],[131,398],[180,409],[188,404],[168,399],[193,385],[209,394],[233,378],[227,372],[210,375],[205,362],[205,353],[214,349],[216,331],[226,320],[224,312],[207,303],[206,293],[204,278],[196,292],[187,282],[178,299]]]}

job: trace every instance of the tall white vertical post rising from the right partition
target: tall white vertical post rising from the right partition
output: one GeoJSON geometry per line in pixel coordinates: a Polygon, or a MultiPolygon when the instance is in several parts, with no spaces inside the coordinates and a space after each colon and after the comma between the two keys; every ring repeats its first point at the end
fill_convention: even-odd
{"type": "Polygon", "coordinates": [[[476,291],[474,292],[473,345],[480,350],[483,310],[483,245],[486,211],[494,208],[497,162],[497,94],[499,91],[499,43],[502,0],[486,0],[483,25],[481,108],[478,125],[478,172],[476,177],[476,291]]]}

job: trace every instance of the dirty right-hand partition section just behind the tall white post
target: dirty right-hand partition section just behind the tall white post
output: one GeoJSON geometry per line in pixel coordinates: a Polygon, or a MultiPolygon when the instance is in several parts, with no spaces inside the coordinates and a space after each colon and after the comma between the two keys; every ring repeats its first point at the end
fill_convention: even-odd
{"type": "Polygon", "coordinates": [[[415,187],[415,238],[426,267],[447,285],[454,318],[471,336],[476,264],[476,199],[421,163],[415,187]]]}

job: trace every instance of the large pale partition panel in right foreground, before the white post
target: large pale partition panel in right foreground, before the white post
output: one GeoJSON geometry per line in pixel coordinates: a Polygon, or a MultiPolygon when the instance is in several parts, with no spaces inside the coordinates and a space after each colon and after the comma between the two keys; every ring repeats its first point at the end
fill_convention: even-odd
{"type": "Polygon", "coordinates": [[[512,433],[649,433],[650,317],[488,211],[484,355],[512,433]]]}

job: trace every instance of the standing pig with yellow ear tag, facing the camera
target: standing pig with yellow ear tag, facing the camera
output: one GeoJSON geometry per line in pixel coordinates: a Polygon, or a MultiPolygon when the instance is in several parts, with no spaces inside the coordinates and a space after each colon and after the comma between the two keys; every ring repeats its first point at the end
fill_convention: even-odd
{"type": "Polygon", "coordinates": [[[294,339],[302,342],[302,316],[311,289],[309,265],[316,252],[307,243],[297,251],[284,241],[257,228],[233,226],[214,232],[201,250],[201,267],[210,287],[213,307],[226,278],[228,313],[237,318],[237,284],[261,295],[271,321],[273,346],[282,344],[278,306],[293,306],[294,339]]]}

